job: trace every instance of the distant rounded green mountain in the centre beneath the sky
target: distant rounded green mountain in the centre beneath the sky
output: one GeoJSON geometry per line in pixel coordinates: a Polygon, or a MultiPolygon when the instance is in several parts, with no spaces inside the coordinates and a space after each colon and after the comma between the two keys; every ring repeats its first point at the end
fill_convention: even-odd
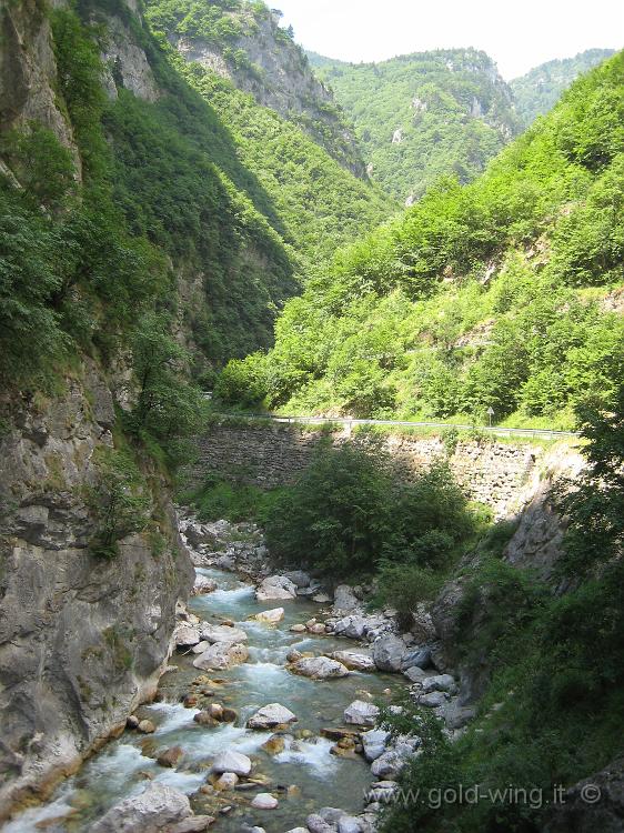
{"type": "Polygon", "coordinates": [[[310,59],[355,123],[372,179],[401,201],[420,199],[443,174],[467,182],[520,131],[511,90],[484,52],[310,59]]]}

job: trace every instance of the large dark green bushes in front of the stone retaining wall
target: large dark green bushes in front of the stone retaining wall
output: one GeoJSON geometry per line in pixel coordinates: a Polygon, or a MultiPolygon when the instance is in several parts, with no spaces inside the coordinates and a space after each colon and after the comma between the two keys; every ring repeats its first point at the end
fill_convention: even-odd
{"type": "Polygon", "coordinates": [[[404,474],[379,443],[322,445],[269,512],[271,552],[338,578],[388,561],[447,566],[473,528],[465,499],[442,463],[414,482],[404,474]]]}

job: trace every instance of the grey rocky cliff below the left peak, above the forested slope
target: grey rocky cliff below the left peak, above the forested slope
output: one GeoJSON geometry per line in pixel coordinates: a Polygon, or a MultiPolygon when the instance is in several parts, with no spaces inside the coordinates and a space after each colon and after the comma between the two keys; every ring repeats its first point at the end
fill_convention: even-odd
{"type": "Polygon", "coordinates": [[[242,16],[242,34],[228,47],[175,31],[169,41],[188,61],[228,78],[263,107],[299,124],[343,167],[366,178],[358,142],[333,92],[314,76],[308,58],[279,26],[279,13],[246,7],[232,12],[242,16]],[[238,62],[236,54],[245,60],[238,62]]]}

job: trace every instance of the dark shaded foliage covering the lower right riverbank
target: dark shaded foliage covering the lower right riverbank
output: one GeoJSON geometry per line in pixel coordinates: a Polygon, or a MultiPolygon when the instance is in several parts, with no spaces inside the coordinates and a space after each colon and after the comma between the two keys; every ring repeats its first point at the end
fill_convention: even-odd
{"type": "MultiPolygon", "coordinates": [[[[570,518],[567,553],[555,576],[566,592],[553,593],[530,571],[500,559],[509,526],[495,528],[483,542],[481,565],[464,579],[455,632],[462,661],[482,670],[485,661],[491,672],[480,717],[452,745],[434,742],[440,759],[427,757],[424,742],[402,775],[404,789],[420,789],[421,796],[424,789],[429,796],[430,789],[479,784],[486,796],[511,785],[546,796],[622,754],[623,414],[622,385],[606,402],[582,409],[587,471],[558,506],[570,518]]],[[[420,733],[409,710],[384,719],[389,725],[399,720],[394,731],[403,732],[411,721],[420,733]]],[[[434,813],[420,803],[409,811],[399,804],[383,830],[541,830],[543,809],[540,801],[513,797],[442,802],[434,813]]]]}

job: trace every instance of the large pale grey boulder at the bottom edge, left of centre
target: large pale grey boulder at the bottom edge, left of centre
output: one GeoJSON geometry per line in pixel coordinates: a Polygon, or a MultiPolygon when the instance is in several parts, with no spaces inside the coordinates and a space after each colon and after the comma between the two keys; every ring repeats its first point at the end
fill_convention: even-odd
{"type": "Polygon", "coordinates": [[[153,833],[190,815],[191,805],[183,793],[164,784],[150,784],[140,795],[111,807],[93,824],[91,833],[153,833]]]}

